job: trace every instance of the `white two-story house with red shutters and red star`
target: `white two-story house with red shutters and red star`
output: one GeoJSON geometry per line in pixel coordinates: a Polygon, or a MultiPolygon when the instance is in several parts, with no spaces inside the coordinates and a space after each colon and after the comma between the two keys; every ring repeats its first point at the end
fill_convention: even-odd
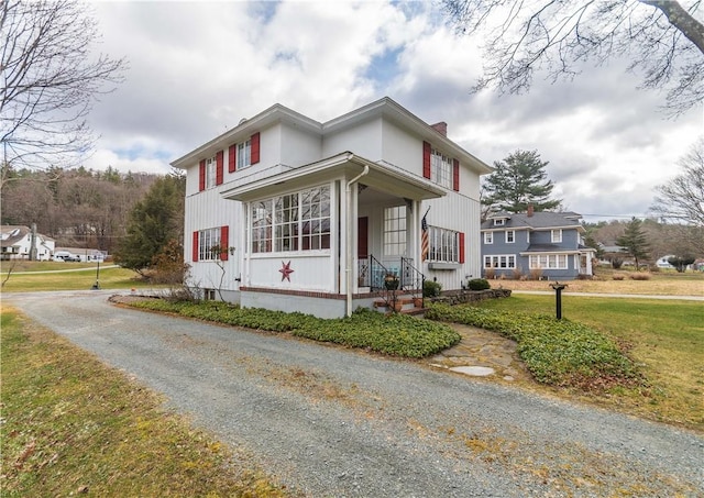
{"type": "Polygon", "coordinates": [[[187,284],[320,317],[371,306],[387,274],[461,288],[481,276],[492,168],[446,134],[388,98],[324,123],[280,104],[242,120],[172,163],[187,175],[187,284]]]}

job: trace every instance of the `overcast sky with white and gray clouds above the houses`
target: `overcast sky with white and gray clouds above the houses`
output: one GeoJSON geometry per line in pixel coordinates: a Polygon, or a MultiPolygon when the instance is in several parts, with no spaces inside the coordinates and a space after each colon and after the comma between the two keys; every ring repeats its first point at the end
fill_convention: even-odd
{"type": "Polygon", "coordinates": [[[86,166],[168,173],[168,163],[274,103],[324,122],[391,97],[492,165],[537,150],[554,193],[587,221],[645,215],[653,187],[704,133],[638,90],[623,60],[529,93],[471,95],[477,40],[457,37],[431,2],[107,2],[92,5],[127,81],[91,114],[86,166]]]}

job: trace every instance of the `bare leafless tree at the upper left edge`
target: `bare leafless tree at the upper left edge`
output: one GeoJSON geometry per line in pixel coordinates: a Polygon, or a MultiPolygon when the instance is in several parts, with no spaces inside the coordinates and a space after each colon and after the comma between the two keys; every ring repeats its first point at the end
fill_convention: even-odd
{"type": "Polygon", "coordinates": [[[0,2],[3,174],[8,165],[70,166],[91,147],[86,117],[97,96],[122,80],[125,62],[91,53],[99,35],[87,8],[73,0],[0,2]]]}

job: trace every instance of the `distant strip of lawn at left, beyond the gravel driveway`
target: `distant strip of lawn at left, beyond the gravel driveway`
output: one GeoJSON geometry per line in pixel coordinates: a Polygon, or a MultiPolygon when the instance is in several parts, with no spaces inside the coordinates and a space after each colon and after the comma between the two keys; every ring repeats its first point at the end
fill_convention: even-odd
{"type": "Polygon", "coordinates": [[[148,283],[131,269],[107,266],[112,265],[101,264],[98,273],[96,263],[2,262],[0,281],[4,281],[3,292],[89,290],[96,283],[96,277],[99,277],[102,289],[148,286],[148,283]]]}

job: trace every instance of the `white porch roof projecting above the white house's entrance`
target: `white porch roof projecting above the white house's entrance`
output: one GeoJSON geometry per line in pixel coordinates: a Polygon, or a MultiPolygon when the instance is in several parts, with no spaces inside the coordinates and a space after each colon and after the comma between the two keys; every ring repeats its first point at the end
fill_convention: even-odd
{"type": "Polygon", "coordinates": [[[330,181],[334,178],[352,179],[362,173],[364,166],[369,166],[370,169],[364,177],[359,179],[359,182],[376,190],[411,200],[435,199],[447,195],[443,188],[426,178],[411,175],[394,165],[373,163],[351,152],[345,152],[233,187],[222,191],[221,196],[224,199],[246,202],[330,181]]]}

